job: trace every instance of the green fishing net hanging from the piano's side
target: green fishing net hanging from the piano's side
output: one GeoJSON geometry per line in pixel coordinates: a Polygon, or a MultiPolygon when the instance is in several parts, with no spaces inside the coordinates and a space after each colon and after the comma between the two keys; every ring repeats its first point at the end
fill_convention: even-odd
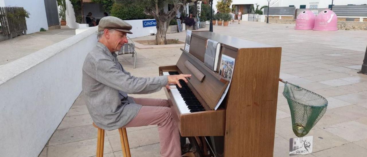
{"type": "Polygon", "coordinates": [[[284,84],[283,95],[287,98],[291,111],[294,134],[298,137],[305,136],[326,112],[327,100],[287,82],[284,84]]]}

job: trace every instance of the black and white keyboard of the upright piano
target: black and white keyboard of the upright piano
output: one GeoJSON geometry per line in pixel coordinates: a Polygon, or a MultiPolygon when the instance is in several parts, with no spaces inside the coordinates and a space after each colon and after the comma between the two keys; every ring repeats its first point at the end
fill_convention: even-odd
{"type": "MultiPolygon", "coordinates": [[[[168,72],[169,75],[178,75],[178,72],[168,72]]],[[[164,72],[164,75],[167,75],[164,72]]],[[[200,101],[191,91],[190,87],[183,80],[179,80],[181,87],[176,85],[176,88],[171,88],[171,94],[175,100],[181,114],[205,111],[200,101]]]]}

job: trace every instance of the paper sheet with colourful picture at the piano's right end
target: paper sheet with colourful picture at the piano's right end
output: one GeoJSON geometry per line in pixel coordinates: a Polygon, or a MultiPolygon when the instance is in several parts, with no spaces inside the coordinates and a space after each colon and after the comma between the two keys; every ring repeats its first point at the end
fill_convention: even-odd
{"type": "Polygon", "coordinates": [[[219,67],[219,74],[222,75],[225,78],[229,79],[229,83],[227,85],[226,90],[224,90],[221,98],[219,99],[217,105],[214,107],[214,110],[217,110],[218,107],[221,105],[221,103],[223,102],[224,98],[227,95],[228,89],[229,89],[229,85],[230,82],[232,80],[232,74],[233,74],[233,67],[235,67],[235,59],[227,56],[227,55],[222,55],[222,60],[221,60],[221,65],[219,67]]]}

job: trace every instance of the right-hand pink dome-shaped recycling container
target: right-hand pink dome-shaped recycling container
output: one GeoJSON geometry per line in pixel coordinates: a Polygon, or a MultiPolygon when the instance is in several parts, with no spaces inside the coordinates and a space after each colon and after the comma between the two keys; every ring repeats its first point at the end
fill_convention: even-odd
{"type": "Polygon", "coordinates": [[[338,30],[338,17],[331,10],[323,10],[319,12],[315,20],[313,30],[338,30]]]}

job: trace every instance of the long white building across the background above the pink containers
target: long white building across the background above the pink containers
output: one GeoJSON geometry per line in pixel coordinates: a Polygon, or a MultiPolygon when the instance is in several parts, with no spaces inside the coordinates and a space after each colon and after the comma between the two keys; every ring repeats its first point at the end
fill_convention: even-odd
{"type": "MultiPolygon", "coordinates": [[[[214,6],[217,5],[217,1],[214,0],[214,6]]],[[[235,5],[236,12],[238,9],[241,10],[243,14],[248,14],[250,12],[250,7],[254,4],[261,6],[267,6],[267,0],[233,0],[232,6],[235,5]]],[[[333,5],[341,6],[341,5],[361,5],[367,4],[367,0],[334,0],[333,5]]],[[[294,6],[296,8],[328,8],[331,5],[331,0],[271,0],[270,7],[289,7],[294,6]]],[[[213,6],[213,7],[214,7],[213,6]]],[[[256,7],[256,6],[255,6],[256,7]]],[[[214,11],[217,11],[217,8],[214,8],[214,11]]]]}

